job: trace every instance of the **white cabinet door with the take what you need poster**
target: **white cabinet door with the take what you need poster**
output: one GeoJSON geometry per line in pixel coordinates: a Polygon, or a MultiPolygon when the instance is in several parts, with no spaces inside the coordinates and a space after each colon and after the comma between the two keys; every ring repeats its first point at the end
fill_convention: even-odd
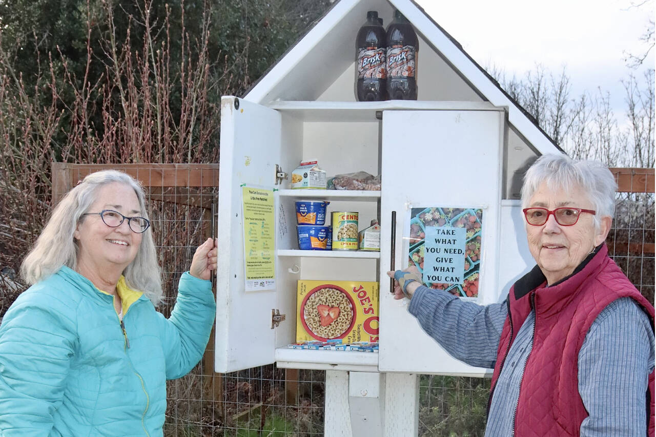
{"type": "MultiPolygon", "coordinates": [[[[381,228],[392,229],[391,213],[396,211],[395,268],[403,269],[415,262],[411,255],[424,245],[425,253],[421,253],[421,259],[416,262],[418,267],[425,267],[424,272],[433,272],[433,277],[438,278],[430,282],[435,282],[436,287],[444,286],[447,291],[448,287],[454,287],[451,289],[453,294],[461,293],[462,299],[470,299],[478,304],[497,302],[501,293],[498,287],[498,264],[504,119],[502,108],[385,111],[382,118],[384,180],[380,200],[381,228]],[[420,215],[420,211],[424,211],[424,215],[420,215]],[[426,219],[430,217],[426,213],[434,214],[433,218],[437,222],[438,216],[434,211],[440,212],[439,224],[425,224],[430,221],[426,219]],[[462,222],[460,225],[463,227],[457,227],[457,220],[461,217],[472,218],[472,222],[478,222],[477,227],[467,227],[465,234],[462,222]],[[421,226],[420,218],[424,220],[421,226]],[[415,223],[415,229],[420,229],[420,234],[425,233],[425,236],[417,238],[425,238],[425,241],[412,238],[411,226],[415,223]],[[428,229],[429,226],[432,230],[428,229]],[[443,248],[446,246],[442,246],[444,252],[464,251],[470,241],[482,242],[478,256],[472,255],[474,261],[466,255],[461,255],[458,261],[461,264],[451,261],[450,265],[458,266],[459,274],[456,270],[454,276],[438,276],[435,272],[444,270],[432,270],[434,266],[429,264],[428,253],[436,247],[430,246],[429,234],[437,232],[436,228],[440,229],[439,232],[462,234],[458,238],[463,249],[445,250],[443,248]],[[460,281],[478,278],[478,297],[468,297],[464,293],[464,285],[457,288],[459,285],[458,279],[454,279],[456,276],[459,276],[460,281]],[[443,284],[448,282],[451,285],[443,284]]],[[[455,241],[450,238],[443,236],[440,241],[455,241]]],[[[437,243],[437,240],[436,236],[430,243],[437,243]]],[[[392,299],[390,279],[385,274],[390,270],[391,243],[390,232],[382,232],[379,370],[469,376],[488,374],[488,369],[472,367],[455,360],[407,312],[407,299],[392,299]]],[[[438,257],[434,255],[430,262],[438,257]]],[[[442,262],[443,257],[436,262],[442,262]]],[[[452,257],[449,255],[449,259],[452,257]]],[[[454,332],[453,335],[462,337],[464,333],[454,332]]],[[[466,341],[464,337],[462,340],[466,341]]]]}

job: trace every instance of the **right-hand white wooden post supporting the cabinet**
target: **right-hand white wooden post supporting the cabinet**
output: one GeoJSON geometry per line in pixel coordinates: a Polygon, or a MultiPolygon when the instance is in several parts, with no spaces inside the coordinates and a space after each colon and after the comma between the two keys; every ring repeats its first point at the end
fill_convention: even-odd
{"type": "Polygon", "coordinates": [[[386,373],[384,437],[417,437],[419,433],[419,375],[386,373]]]}

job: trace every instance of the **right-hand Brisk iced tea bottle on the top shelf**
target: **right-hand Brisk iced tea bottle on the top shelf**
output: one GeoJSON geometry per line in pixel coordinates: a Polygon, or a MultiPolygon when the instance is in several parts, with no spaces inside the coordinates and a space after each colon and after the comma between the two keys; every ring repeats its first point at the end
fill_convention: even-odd
{"type": "Polygon", "coordinates": [[[417,100],[419,41],[412,24],[394,10],[387,26],[387,96],[392,100],[417,100]]]}

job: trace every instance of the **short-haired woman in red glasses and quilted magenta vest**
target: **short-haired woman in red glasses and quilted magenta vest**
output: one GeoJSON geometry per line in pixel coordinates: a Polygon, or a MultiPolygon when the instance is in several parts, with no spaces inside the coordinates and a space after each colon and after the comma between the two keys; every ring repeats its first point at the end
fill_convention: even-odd
{"type": "Polygon", "coordinates": [[[499,304],[388,272],[449,354],[494,368],[486,437],[654,435],[654,307],[608,257],[615,188],[594,161],[537,159],[522,187],[537,265],[499,304]]]}

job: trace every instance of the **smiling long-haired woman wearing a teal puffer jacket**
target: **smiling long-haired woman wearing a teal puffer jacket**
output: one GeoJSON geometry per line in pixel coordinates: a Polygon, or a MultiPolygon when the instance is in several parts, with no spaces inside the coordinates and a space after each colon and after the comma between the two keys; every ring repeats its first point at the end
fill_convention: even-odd
{"type": "Polygon", "coordinates": [[[161,436],[166,380],[199,362],[215,314],[212,239],[170,318],[144,192],[119,171],[73,188],[24,260],[0,325],[0,435],[161,436]]]}

